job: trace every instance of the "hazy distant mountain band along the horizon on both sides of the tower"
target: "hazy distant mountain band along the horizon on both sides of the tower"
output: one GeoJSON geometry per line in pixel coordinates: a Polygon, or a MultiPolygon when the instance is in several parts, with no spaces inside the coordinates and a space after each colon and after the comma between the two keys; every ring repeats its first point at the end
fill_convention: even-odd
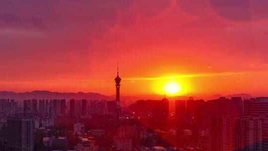
{"type": "MultiPolygon", "coordinates": [[[[134,95],[134,96],[121,96],[122,101],[128,101],[129,103],[134,103],[136,100],[139,99],[162,99],[164,96],[162,95],[134,95]]],[[[242,97],[244,99],[249,99],[254,96],[246,93],[240,93],[240,94],[232,94],[232,95],[221,95],[221,94],[214,94],[207,97],[202,97],[204,100],[213,100],[218,99],[219,97],[242,97]]],[[[15,100],[25,100],[25,99],[88,99],[88,100],[114,100],[115,95],[106,96],[100,93],[94,93],[94,92],[52,92],[47,90],[34,90],[32,92],[21,92],[16,93],[12,91],[0,91],[0,98],[9,98],[9,99],[15,99],[15,100]]],[[[169,100],[187,100],[189,96],[173,96],[169,97],[167,96],[169,100]]],[[[195,99],[201,99],[196,98],[195,99]]]]}

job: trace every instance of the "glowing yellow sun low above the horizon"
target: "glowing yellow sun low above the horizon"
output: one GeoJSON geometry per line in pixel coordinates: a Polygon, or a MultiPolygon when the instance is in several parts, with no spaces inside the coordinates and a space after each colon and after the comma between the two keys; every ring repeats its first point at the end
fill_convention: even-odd
{"type": "Polygon", "coordinates": [[[175,95],[182,91],[182,85],[176,81],[168,81],[164,83],[163,89],[165,93],[175,95]]]}

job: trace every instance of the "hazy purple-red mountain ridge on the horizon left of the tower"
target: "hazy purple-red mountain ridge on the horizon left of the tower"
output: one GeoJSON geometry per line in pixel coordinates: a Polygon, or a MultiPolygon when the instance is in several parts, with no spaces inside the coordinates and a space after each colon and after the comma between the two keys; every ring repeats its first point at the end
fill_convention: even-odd
{"type": "Polygon", "coordinates": [[[32,92],[8,92],[0,91],[0,98],[9,98],[15,100],[25,100],[25,99],[92,99],[92,100],[112,100],[113,98],[105,96],[100,93],[93,92],[51,92],[47,90],[35,90],[32,92]]]}

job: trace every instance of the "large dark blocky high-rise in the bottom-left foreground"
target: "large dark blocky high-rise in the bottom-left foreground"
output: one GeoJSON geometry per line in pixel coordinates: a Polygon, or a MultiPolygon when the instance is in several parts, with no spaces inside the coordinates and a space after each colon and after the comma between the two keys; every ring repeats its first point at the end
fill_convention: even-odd
{"type": "Polygon", "coordinates": [[[34,123],[28,117],[7,118],[8,151],[34,150],[34,123]]]}

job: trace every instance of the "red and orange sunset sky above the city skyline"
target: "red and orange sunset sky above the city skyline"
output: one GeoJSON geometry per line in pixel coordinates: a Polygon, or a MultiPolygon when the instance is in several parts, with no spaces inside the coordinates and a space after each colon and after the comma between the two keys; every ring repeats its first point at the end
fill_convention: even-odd
{"type": "Polygon", "coordinates": [[[1,0],[0,90],[268,95],[268,0],[1,0]]]}

